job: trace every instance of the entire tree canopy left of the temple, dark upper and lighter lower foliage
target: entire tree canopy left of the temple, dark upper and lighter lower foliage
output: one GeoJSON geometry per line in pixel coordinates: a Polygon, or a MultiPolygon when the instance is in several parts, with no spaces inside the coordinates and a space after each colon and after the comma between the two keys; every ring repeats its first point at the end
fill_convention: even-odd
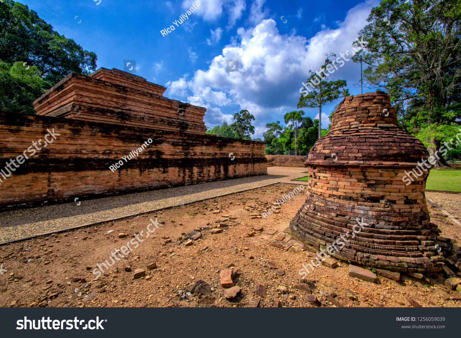
{"type": "Polygon", "coordinates": [[[0,2],[1,109],[35,114],[32,102],[45,90],[70,72],[90,74],[96,60],[94,52],[60,35],[28,6],[0,2]]]}

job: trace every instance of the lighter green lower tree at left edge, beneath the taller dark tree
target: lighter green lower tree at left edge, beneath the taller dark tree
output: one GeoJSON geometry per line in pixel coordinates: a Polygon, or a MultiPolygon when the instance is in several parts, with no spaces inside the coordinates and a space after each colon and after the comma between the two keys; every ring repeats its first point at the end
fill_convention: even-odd
{"type": "Polygon", "coordinates": [[[48,86],[37,67],[26,69],[22,62],[9,67],[0,61],[0,111],[34,115],[32,103],[45,93],[44,88],[48,86]]]}

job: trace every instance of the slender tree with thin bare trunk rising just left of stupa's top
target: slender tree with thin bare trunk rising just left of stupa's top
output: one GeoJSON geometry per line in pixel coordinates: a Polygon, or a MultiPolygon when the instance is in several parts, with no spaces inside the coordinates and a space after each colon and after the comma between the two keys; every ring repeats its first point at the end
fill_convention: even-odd
{"type": "Polygon", "coordinates": [[[326,78],[330,76],[327,73],[333,69],[333,62],[330,61],[331,57],[336,57],[336,54],[326,54],[325,64],[320,68],[320,72],[318,70],[316,72],[309,70],[311,76],[307,78],[306,83],[311,88],[307,87],[305,83],[302,84],[306,89],[301,92],[297,105],[298,109],[303,107],[319,108],[319,138],[321,137],[322,106],[340,97],[349,96],[349,90],[342,89],[347,86],[346,80],[328,81],[326,78]],[[322,76],[322,72],[325,76],[322,76]],[[317,75],[320,76],[320,79],[317,75]]]}

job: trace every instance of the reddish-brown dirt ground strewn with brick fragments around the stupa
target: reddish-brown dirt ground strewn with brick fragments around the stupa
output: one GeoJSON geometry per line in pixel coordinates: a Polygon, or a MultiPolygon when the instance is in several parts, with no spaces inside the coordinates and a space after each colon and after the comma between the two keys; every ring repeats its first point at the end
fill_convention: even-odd
{"type": "MultiPolygon", "coordinates": [[[[260,216],[296,187],[299,185],[278,183],[124,221],[3,245],[0,262],[7,271],[0,275],[0,306],[315,306],[303,298],[310,291],[298,284],[298,270],[312,259],[312,253],[301,251],[299,243],[290,240],[287,229],[304,203],[304,193],[277,206],[266,219],[260,216]],[[155,217],[164,224],[147,237],[149,219],[155,217]],[[139,241],[136,248],[131,246],[130,252],[122,246],[134,240],[135,233],[143,242],[139,241]],[[125,234],[126,238],[119,238],[125,234]],[[272,246],[277,236],[293,244],[290,249],[272,246]],[[121,251],[119,256],[115,255],[117,250],[121,251]],[[96,278],[93,271],[97,264],[112,262],[111,251],[117,257],[115,263],[103,268],[104,274],[96,278]],[[130,253],[125,255],[127,251],[130,253]],[[220,283],[222,271],[228,269],[233,270],[233,281],[241,288],[240,294],[229,300],[220,283]],[[140,278],[135,279],[135,271],[140,278]],[[209,295],[201,295],[196,291],[198,287],[193,288],[194,284],[203,286],[195,283],[197,280],[209,285],[205,292],[209,295]],[[255,293],[257,289],[263,296],[255,293]]],[[[442,235],[459,243],[460,228],[436,208],[430,210],[442,235]]],[[[461,306],[460,295],[448,290],[442,274],[426,275],[422,280],[406,275],[398,282],[381,276],[379,280],[380,284],[375,284],[350,277],[348,263],[338,262],[336,268],[315,268],[304,286],[312,289],[321,306],[407,307],[414,301],[424,307],[461,306]]]]}

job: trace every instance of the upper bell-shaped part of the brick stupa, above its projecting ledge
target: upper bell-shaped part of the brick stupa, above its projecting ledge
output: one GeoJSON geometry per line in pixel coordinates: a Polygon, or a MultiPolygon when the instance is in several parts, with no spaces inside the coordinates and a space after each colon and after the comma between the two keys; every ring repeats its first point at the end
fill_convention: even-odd
{"type": "Polygon", "coordinates": [[[366,93],[343,99],[331,120],[330,132],[312,147],[307,163],[413,168],[427,157],[421,141],[399,127],[387,94],[366,93]]]}

